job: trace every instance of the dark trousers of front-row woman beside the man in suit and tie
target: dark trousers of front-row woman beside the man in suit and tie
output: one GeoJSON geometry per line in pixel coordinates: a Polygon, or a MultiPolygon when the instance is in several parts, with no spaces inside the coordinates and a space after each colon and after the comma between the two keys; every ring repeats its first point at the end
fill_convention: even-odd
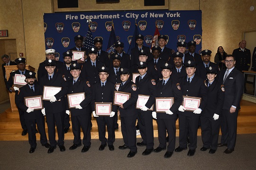
{"type": "Polygon", "coordinates": [[[203,147],[217,150],[221,118],[214,120],[201,116],[200,120],[203,147]]]}

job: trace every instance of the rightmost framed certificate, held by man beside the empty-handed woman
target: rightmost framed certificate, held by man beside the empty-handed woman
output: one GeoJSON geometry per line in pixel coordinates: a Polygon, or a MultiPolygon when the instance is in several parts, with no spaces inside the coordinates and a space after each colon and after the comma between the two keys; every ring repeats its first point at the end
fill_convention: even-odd
{"type": "Polygon", "coordinates": [[[194,111],[199,108],[201,97],[183,96],[182,105],[187,111],[194,111]]]}

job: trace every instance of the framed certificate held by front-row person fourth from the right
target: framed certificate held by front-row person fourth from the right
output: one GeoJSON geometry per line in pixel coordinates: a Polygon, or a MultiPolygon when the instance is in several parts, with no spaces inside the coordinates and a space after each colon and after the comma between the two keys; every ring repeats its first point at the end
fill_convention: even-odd
{"type": "Polygon", "coordinates": [[[169,110],[174,104],[174,97],[156,97],[155,98],[155,111],[165,112],[169,110]]]}

